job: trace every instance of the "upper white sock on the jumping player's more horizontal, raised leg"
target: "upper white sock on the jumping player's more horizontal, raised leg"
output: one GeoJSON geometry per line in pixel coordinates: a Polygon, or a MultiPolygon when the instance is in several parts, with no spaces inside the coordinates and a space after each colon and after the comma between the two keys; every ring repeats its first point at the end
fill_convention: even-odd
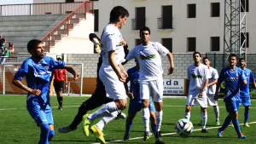
{"type": "Polygon", "coordinates": [[[93,121],[96,118],[105,116],[114,111],[119,111],[119,109],[118,107],[116,107],[114,101],[111,101],[111,102],[108,102],[105,106],[98,109],[96,112],[91,113],[87,118],[88,120],[93,121]]]}

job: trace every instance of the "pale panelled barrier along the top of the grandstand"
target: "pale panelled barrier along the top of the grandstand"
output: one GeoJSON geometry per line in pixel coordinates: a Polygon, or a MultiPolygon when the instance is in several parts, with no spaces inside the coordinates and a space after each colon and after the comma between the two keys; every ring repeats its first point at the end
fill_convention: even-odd
{"type": "Polygon", "coordinates": [[[68,14],[83,2],[75,3],[31,3],[0,5],[1,16],[32,14],[68,14]]]}

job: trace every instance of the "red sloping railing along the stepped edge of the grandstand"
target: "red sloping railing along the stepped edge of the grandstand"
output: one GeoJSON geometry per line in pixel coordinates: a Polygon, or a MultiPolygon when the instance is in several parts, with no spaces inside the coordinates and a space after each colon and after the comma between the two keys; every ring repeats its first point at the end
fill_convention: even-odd
{"type": "Polygon", "coordinates": [[[84,1],[78,8],[74,9],[67,17],[55,26],[41,41],[44,50],[49,52],[51,46],[55,46],[55,40],[61,40],[62,36],[68,36],[70,29],[73,29],[74,19],[86,19],[86,13],[94,14],[94,3],[92,1],[84,1]]]}

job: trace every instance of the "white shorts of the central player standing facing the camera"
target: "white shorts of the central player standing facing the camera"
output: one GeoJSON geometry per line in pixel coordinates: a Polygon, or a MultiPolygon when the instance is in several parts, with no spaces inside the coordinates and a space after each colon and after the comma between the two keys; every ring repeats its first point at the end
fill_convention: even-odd
{"type": "Polygon", "coordinates": [[[141,100],[149,100],[149,96],[155,102],[162,102],[163,100],[164,84],[163,79],[143,81],[140,84],[140,98],[141,100]]]}

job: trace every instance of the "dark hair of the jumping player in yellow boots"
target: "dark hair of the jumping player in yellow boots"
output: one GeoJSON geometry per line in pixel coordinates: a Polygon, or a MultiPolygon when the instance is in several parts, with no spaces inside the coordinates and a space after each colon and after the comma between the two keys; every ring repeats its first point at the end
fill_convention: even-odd
{"type": "Polygon", "coordinates": [[[129,16],[129,12],[127,9],[125,9],[122,6],[116,6],[114,7],[111,12],[110,12],[110,18],[109,21],[110,22],[116,22],[119,19],[119,16],[121,16],[122,18],[124,18],[125,16],[129,16]]]}

